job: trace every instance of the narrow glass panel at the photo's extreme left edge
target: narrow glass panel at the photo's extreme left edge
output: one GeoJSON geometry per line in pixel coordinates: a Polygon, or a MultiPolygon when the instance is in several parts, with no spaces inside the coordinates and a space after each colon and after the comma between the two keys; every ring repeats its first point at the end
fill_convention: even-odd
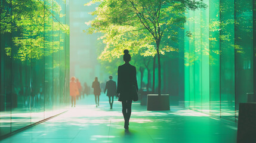
{"type": "MultiPolygon", "coordinates": [[[[7,9],[5,13],[10,13],[10,4],[0,1],[0,6],[7,9]]],[[[7,15],[8,21],[2,21],[3,17],[0,14],[0,136],[11,132],[11,57],[5,52],[5,48],[11,47],[11,33],[2,32],[3,27],[11,24],[11,15],[7,15]]]]}

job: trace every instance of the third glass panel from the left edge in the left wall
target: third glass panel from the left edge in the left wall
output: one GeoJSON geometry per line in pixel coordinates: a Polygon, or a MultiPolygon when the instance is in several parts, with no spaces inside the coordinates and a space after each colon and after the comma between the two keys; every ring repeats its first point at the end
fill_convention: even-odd
{"type": "Polygon", "coordinates": [[[33,5],[36,11],[31,19],[31,38],[32,40],[32,97],[31,97],[31,122],[35,123],[44,119],[44,5],[41,2],[35,1],[33,5]]]}

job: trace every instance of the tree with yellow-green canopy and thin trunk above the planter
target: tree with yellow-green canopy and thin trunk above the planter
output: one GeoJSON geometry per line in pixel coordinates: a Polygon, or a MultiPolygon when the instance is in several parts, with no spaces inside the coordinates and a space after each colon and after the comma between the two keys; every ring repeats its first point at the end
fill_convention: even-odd
{"type": "Polygon", "coordinates": [[[137,61],[143,61],[141,57],[158,55],[160,94],[160,55],[177,51],[169,41],[178,42],[177,28],[183,29],[186,9],[206,8],[203,0],[94,0],[85,5],[97,2],[100,4],[91,13],[97,17],[88,23],[91,28],[87,33],[104,33],[101,39],[106,46],[99,60],[111,63],[121,57],[124,49],[131,51],[137,61]]]}

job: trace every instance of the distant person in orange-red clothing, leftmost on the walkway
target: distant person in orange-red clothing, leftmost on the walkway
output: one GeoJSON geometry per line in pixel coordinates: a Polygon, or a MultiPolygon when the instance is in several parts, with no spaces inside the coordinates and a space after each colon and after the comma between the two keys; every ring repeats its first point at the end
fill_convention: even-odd
{"type": "Polygon", "coordinates": [[[76,79],[76,77],[74,77],[74,76],[71,77],[71,81],[69,83],[69,93],[71,96],[71,104],[72,104],[71,107],[73,107],[73,105],[74,105],[74,107],[76,107],[76,96],[79,95],[78,85],[76,84],[75,79],[76,79]],[[74,102],[74,104],[73,104],[73,102],[74,102]]]}

